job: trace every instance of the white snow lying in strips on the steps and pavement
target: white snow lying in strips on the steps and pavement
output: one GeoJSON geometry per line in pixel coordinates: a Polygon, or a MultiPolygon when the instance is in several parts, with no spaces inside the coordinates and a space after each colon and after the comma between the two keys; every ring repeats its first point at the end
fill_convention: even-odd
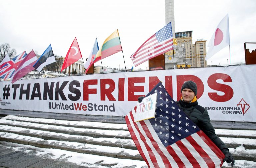
{"type": "MultiPolygon", "coordinates": [[[[18,125],[27,125],[27,126],[33,126],[38,128],[52,128],[52,129],[60,129],[60,130],[68,130],[68,131],[82,131],[82,132],[97,132],[102,134],[109,134],[109,135],[123,135],[123,136],[130,136],[129,131],[125,130],[119,130],[119,131],[111,131],[111,130],[102,130],[102,129],[84,129],[84,128],[74,128],[74,127],[64,127],[64,126],[54,126],[54,125],[43,125],[43,124],[36,124],[36,123],[28,123],[28,122],[18,122],[18,121],[10,121],[6,119],[13,119],[13,120],[25,120],[28,122],[46,122],[46,123],[57,123],[57,124],[66,124],[66,125],[79,125],[79,126],[92,126],[92,127],[104,127],[104,128],[118,128],[118,129],[127,129],[126,124],[110,124],[110,123],[101,123],[101,122],[88,122],[88,121],[66,121],[66,120],[55,120],[55,119],[43,119],[43,118],[29,118],[29,117],[17,117],[13,115],[6,116],[2,119],[0,119],[0,123],[10,123],[10,124],[18,124],[18,125]]],[[[62,133],[55,133],[55,132],[48,132],[48,131],[40,131],[40,130],[34,130],[34,129],[26,129],[26,128],[20,128],[20,127],[12,127],[12,126],[6,126],[6,125],[0,125],[0,129],[2,130],[15,130],[17,132],[24,131],[28,133],[36,133],[36,134],[49,134],[49,135],[58,135],[63,137],[75,137],[75,138],[85,138],[86,140],[93,140],[93,141],[111,141],[112,143],[130,143],[134,145],[132,140],[127,139],[118,139],[118,138],[93,138],[88,136],[77,136],[77,135],[69,135],[69,134],[62,134],[62,133]]],[[[253,130],[227,130],[227,129],[215,129],[216,134],[221,135],[245,135],[245,136],[256,136],[256,131],[253,130]]],[[[27,141],[42,141],[42,142],[48,142],[56,145],[62,145],[62,146],[70,146],[78,149],[90,149],[90,148],[96,148],[97,151],[101,152],[125,152],[129,153],[130,155],[136,155],[138,154],[137,150],[131,150],[131,149],[117,149],[115,147],[97,147],[97,145],[91,145],[91,144],[84,144],[84,143],[78,143],[78,142],[66,142],[66,141],[56,141],[56,140],[48,140],[45,141],[41,138],[34,138],[29,136],[23,136],[18,134],[12,134],[12,133],[5,133],[0,132],[1,137],[10,137],[14,139],[23,139],[27,141]]],[[[227,138],[227,137],[220,137],[221,140],[224,143],[230,143],[230,144],[247,144],[247,145],[256,145],[256,139],[247,139],[247,138],[227,138]]],[[[10,143],[11,144],[11,143],[10,143]]],[[[17,146],[17,145],[16,145],[17,146]]],[[[112,166],[108,166],[111,168],[121,168],[121,167],[129,167],[134,166],[134,168],[146,168],[147,165],[144,161],[136,161],[136,160],[129,160],[129,159],[118,159],[118,158],[111,158],[111,157],[105,157],[105,156],[97,156],[97,155],[90,155],[90,154],[81,154],[76,152],[70,152],[70,151],[64,151],[59,149],[44,149],[44,148],[37,148],[29,145],[20,145],[19,147],[11,147],[13,150],[21,150],[25,148],[25,152],[30,153],[32,150],[36,149],[37,156],[44,156],[46,154],[50,154],[49,157],[52,159],[61,159],[68,162],[73,162],[82,166],[87,167],[94,167],[97,162],[100,162],[101,164],[108,164],[112,166]],[[90,158],[90,159],[88,159],[90,158]]],[[[236,155],[256,155],[256,150],[254,149],[245,149],[243,146],[239,146],[237,148],[229,148],[230,152],[236,155]]],[[[223,166],[225,167],[231,167],[231,163],[227,164],[224,162],[223,166]]],[[[99,168],[106,168],[105,166],[97,165],[99,168]]],[[[253,161],[246,161],[246,160],[235,160],[234,167],[237,168],[256,168],[256,162],[253,161]]]]}

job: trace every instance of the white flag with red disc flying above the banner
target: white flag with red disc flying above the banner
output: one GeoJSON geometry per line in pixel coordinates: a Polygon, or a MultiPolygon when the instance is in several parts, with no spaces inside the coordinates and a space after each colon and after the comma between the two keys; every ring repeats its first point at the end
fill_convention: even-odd
{"type": "Polygon", "coordinates": [[[214,54],[219,52],[224,47],[230,44],[229,40],[229,21],[228,14],[220,21],[215,32],[212,35],[211,40],[209,41],[208,47],[209,50],[205,56],[205,60],[207,61],[214,54]]]}

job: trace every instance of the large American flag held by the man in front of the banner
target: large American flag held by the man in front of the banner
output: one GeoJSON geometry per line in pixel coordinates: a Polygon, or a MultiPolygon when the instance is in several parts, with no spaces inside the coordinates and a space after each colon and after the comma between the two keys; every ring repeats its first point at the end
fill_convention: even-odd
{"type": "Polygon", "coordinates": [[[179,108],[164,86],[157,84],[155,118],[134,122],[136,106],[126,124],[142,158],[150,168],[220,168],[221,150],[179,108]]]}

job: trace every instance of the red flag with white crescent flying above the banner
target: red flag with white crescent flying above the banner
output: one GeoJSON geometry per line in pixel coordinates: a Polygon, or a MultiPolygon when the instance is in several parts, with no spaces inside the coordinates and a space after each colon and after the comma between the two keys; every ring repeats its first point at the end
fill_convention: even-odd
{"type": "Polygon", "coordinates": [[[68,66],[72,65],[74,62],[82,58],[82,54],[80,52],[80,48],[78,46],[76,38],[71,44],[68,53],[65,57],[64,63],[62,65],[61,71],[63,71],[68,66]]]}

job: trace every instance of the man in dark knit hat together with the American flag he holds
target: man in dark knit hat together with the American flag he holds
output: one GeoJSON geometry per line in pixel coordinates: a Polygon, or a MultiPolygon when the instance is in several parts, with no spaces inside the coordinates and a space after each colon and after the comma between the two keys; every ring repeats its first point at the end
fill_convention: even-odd
{"type": "Polygon", "coordinates": [[[187,81],[181,90],[176,104],[159,83],[147,94],[157,93],[155,118],[134,122],[136,106],[125,117],[142,158],[150,168],[220,168],[224,161],[233,166],[234,158],[215,134],[208,112],[197,103],[197,85],[187,81]]]}

